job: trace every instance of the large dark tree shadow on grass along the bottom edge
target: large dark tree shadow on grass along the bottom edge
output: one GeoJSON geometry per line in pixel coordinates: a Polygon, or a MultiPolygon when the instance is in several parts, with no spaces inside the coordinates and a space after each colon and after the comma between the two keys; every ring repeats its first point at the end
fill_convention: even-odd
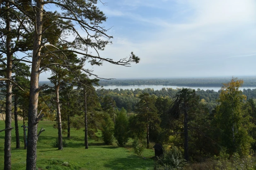
{"type": "Polygon", "coordinates": [[[109,161],[104,164],[104,167],[113,170],[134,170],[137,168],[151,170],[154,168],[154,163],[152,162],[152,159],[144,159],[137,155],[130,155],[126,158],[116,158],[113,161],[109,161]]]}

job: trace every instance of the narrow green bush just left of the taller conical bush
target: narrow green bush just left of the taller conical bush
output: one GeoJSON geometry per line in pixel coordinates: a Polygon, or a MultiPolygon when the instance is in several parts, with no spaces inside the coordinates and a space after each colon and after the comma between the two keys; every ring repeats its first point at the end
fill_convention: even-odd
{"type": "Polygon", "coordinates": [[[114,140],[114,123],[109,115],[104,118],[104,123],[102,124],[102,138],[105,144],[111,145],[114,140]]]}

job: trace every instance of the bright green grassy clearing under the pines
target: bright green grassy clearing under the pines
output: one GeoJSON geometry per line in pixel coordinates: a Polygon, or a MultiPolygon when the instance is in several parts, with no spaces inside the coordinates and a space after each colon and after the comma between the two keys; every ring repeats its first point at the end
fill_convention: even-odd
{"type": "MultiPolygon", "coordinates": [[[[41,133],[37,142],[37,168],[39,170],[152,170],[154,167],[154,151],[145,149],[143,157],[133,153],[132,140],[124,147],[118,147],[116,143],[111,146],[104,145],[102,141],[89,139],[89,149],[84,146],[84,132],[82,129],[71,129],[70,136],[63,137],[68,143],[62,151],[53,148],[51,143],[58,137],[58,130],[53,128],[55,122],[41,121],[41,127],[45,131],[41,133]]],[[[26,150],[24,150],[22,122],[19,122],[19,137],[21,149],[15,149],[15,130],[12,130],[12,169],[24,170],[26,168],[26,150]]],[[[0,130],[5,123],[0,120],[0,130]]],[[[14,122],[12,127],[14,127],[14,122]]],[[[97,135],[101,135],[98,132],[97,135]]],[[[0,169],[4,165],[4,136],[0,132],[0,169]]],[[[66,136],[66,135],[63,135],[66,136]]]]}

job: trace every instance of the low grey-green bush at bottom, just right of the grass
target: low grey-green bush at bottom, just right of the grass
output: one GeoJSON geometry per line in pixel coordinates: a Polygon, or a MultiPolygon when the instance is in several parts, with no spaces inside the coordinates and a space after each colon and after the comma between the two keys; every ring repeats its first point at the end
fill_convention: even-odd
{"type": "Polygon", "coordinates": [[[157,157],[155,170],[181,170],[185,164],[181,151],[173,146],[164,149],[163,156],[157,157]]]}

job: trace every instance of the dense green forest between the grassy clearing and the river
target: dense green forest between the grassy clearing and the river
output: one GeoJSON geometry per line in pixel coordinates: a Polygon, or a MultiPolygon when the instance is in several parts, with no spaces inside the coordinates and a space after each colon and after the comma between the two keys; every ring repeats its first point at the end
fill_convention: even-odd
{"type": "MultiPolygon", "coordinates": [[[[24,79],[25,82],[29,80],[24,79]]],[[[63,81],[57,105],[61,125],[55,86],[45,86],[39,93],[39,110],[44,113],[41,121],[55,121],[53,127],[67,139],[72,137],[70,129],[83,129],[85,148],[90,148],[89,139],[103,141],[105,145],[116,143],[117,147],[128,147],[128,140],[132,139],[134,153],[142,156],[145,149],[160,144],[164,153],[155,159],[152,168],[156,170],[206,166],[250,169],[256,162],[256,89],[241,91],[242,83],[243,80],[232,78],[215,92],[187,88],[96,90],[92,84],[85,87],[75,81],[63,81]],[[97,135],[99,132],[101,136],[97,135]],[[241,165],[235,163],[237,160],[241,165]]],[[[25,127],[28,91],[17,89],[16,94],[19,95],[13,98],[14,117],[21,117],[25,127]]],[[[4,108],[5,99],[1,103],[4,108]]],[[[14,120],[16,124],[17,118],[14,120]]],[[[21,147],[19,140],[16,138],[17,148],[21,147]]],[[[60,141],[62,148],[59,138],[55,147],[63,149],[67,143],[61,138],[60,141]]]]}

